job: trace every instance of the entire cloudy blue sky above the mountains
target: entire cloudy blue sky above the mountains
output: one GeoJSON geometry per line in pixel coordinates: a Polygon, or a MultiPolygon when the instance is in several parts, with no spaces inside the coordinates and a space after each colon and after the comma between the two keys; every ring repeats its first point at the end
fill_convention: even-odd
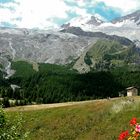
{"type": "Polygon", "coordinates": [[[0,0],[0,26],[51,29],[74,17],[110,21],[140,9],[140,0],[0,0]]]}

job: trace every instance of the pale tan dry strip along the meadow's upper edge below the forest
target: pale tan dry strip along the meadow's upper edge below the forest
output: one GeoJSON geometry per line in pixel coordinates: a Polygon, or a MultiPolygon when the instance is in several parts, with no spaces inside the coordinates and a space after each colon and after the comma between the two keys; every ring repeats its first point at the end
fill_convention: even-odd
{"type": "Polygon", "coordinates": [[[17,106],[17,107],[6,108],[5,111],[31,111],[31,110],[33,111],[33,110],[40,110],[40,109],[47,109],[47,108],[57,108],[57,107],[72,106],[72,105],[85,104],[85,103],[92,103],[92,102],[96,102],[96,101],[106,101],[106,99],[80,101],[80,102],[66,102],[66,103],[54,103],[54,104],[17,106]]]}

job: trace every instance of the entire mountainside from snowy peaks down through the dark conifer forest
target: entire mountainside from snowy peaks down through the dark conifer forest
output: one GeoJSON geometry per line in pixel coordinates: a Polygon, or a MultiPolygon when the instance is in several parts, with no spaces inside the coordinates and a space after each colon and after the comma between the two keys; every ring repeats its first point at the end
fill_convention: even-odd
{"type": "Polygon", "coordinates": [[[0,96],[16,104],[116,97],[140,84],[139,69],[140,11],[77,17],[55,31],[0,28],[0,96]]]}

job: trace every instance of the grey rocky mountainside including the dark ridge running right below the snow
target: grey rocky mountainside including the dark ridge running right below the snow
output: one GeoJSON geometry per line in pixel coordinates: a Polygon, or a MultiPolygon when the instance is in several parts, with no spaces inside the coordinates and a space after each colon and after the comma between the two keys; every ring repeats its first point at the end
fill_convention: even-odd
{"type": "Polygon", "coordinates": [[[131,40],[102,32],[88,32],[80,27],[61,31],[0,28],[0,65],[8,79],[14,73],[12,61],[68,65],[84,54],[97,40],[112,40],[123,45],[134,45],[131,40]]]}

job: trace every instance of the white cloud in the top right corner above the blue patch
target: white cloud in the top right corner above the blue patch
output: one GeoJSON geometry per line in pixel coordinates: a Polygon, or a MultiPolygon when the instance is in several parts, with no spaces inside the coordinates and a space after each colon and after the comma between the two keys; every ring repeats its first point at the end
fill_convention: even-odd
{"type": "MultiPolygon", "coordinates": [[[[92,2],[95,4],[95,0],[92,0],[92,2]]],[[[120,9],[123,12],[122,14],[127,14],[140,8],[140,0],[96,0],[96,3],[98,2],[104,2],[107,6],[120,9]]]]}

